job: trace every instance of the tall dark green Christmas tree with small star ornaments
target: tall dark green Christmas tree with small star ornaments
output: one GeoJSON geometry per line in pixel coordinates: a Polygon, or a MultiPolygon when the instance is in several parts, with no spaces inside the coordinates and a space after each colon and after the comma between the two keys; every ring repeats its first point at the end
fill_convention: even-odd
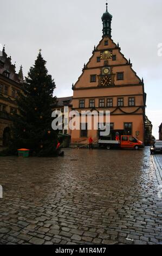
{"type": "Polygon", "coordinates": [[[51,129],[51,103],[55,82],[48,75],[46,61],[41,50],[30,68],[23,84],[23,94],[17,99],[19,114],[13,115],[12,139],[8,152],[16,154],[17,149],[30,149],[35,156],[55,156],[57,132],[51,129]]]}

